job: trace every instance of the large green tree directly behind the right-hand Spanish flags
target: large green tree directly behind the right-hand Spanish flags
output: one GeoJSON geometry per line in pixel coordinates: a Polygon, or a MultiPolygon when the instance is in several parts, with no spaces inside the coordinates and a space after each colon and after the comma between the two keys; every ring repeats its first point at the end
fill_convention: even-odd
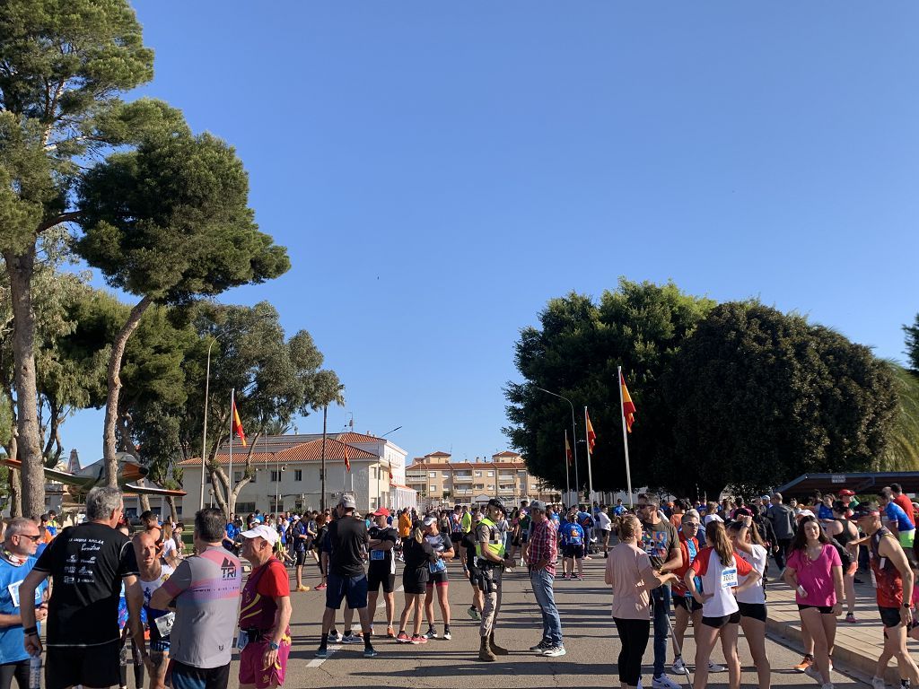
{"type": "Polygon", "coordinates": [[[686,335],[713,305],[673,283],[625,278],[619,279],[616,290],[605,291],[598,304],[576,293],[551,299],[539,314],[539,327],[522,330],[516,344],[515,362],[523,382],[508,383],[505,390],[511,422],[505,433],[527,457],[529,469],[555,486],[565,485],[563,434],[566,429],[571,433],[571,407],[538,390],[544,388],[574,405],[581,482],[577,488],[583,490],[587,482],[584,406],[598,438],[594,489],[626,486],[617,381],[617,367],[622,366],[639,409],[630,436],[632,482],[635,487],[660,485],[656,461],[667,441],[672,412],[661,398],[659,381],[686,335]]]}

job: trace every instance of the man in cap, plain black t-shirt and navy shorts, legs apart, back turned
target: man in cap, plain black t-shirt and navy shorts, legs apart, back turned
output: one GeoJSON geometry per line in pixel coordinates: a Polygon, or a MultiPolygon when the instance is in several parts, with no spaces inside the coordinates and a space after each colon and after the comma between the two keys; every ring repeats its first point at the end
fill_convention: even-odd
{"type": "MultiPolygon", "coordinates": [[[[370,615],[367,609],[367,557],[369,537],[364,520],[355,519],[357,508],[354,496],[343,494],[338,502],[338,518],[329,525],[325,535],[329,553],[329,571],[325,589],[323,636],[319,641],[316,658],[327,658],[329,629],[335,621],[335,610],[347,599],[347,606],[357,610],[364,634],[364,657],[373,658],[377,651],[370,642],[370,615]]],[[[323,547],[324,548],[324,547],[323,547]]]]}

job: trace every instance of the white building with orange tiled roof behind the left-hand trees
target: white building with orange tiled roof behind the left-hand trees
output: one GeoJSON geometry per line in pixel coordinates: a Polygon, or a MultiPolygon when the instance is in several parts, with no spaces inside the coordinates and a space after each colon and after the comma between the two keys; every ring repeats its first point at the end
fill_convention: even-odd
{"type": "MultiPolygon", "coordinates": [[[[233,446],[233,482],[242,480],[249,447],[233,446]]],[[[229,447],[217,455],[224,470],[229,469],[229,447]]],[[[333,433],[325,436],[325,504],[335,504],[342,491],[351,492],[360,512],[378,507],[414,507],[416,493],[405,485],[405,457],[402,447],[385,438],[359,433],[333,433]],[[351,470],[345,469],[347,455],[351,470]]],[[[244,485],[236,501],[236,513],[261,510],[318,510],[320,508],[320,468],[323,456],[322,434],[268,435],[259,438],[252,454],[255,479],[244,485]]],[[[201,460],[196,457],[179,464],[183,469],[182,490],[187,495],[179,502],[182,514],[199,508],[201,460]]],[[[210,476],[205,472],[204,505],[213,501],[210,476]]],[[[213,503],[216,506],[216,503],[213,503]]]]}

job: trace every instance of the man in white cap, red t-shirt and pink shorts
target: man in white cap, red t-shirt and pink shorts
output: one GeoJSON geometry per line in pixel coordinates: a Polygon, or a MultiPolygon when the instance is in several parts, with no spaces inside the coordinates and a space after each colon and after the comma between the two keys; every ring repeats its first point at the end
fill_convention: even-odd
{"type": "Polygon", "coordinates": [[[284,683],[290,654],[290,580],[274,557],[278,531],[257,525],[240,534],[243,557],[252,563],[240,601],[240,689],[272,689],[284,683]]]}

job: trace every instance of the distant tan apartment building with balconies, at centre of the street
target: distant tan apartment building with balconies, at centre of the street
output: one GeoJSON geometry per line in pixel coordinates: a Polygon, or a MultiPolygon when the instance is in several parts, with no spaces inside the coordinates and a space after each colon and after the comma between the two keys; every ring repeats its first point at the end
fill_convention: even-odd
{"type": "Polygon", "coordinates": [[[405,469],[405,483],[417,491],[418,502],[427,505],[484,503],[494,497],[511,503],[554,502],[561,497],[560,491],[529,473],[523,457],[509,450],[471,462],[451,461],[447,452],[415,457],[405,469]]]}

